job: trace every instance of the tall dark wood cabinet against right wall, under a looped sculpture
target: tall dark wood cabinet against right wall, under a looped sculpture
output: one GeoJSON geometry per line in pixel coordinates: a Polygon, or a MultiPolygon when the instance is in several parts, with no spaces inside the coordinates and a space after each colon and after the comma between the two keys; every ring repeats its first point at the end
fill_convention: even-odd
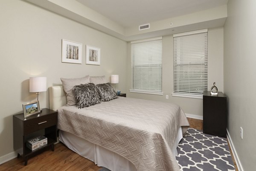
{"type": "Polygon", "coordinates": [[[222,92],[204,91],[203,132],[227,138],[227,97],[222,92]]]}

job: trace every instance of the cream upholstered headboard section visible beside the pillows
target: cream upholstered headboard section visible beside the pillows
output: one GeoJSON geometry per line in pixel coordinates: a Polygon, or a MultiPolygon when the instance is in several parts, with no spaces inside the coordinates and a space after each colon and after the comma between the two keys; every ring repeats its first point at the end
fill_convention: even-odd
{"type": "Polygon", "coordinates": [[[49,103],[50,109],[58,110],[59,107],[67,104],[66,94],[63,86],[49,87],[49,103]]]}

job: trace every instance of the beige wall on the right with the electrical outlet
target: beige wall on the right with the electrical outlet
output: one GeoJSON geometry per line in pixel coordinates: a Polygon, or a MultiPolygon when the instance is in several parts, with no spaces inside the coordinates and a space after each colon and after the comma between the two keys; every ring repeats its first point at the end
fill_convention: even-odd
{"type": "Polygon", "coordinates": [[[229,0],[224,25],[224,92],[228,131],[244,171],[256,162],[256,1],[229,0]],[[243,128],[243,139],[240,138],[243,128]]]}

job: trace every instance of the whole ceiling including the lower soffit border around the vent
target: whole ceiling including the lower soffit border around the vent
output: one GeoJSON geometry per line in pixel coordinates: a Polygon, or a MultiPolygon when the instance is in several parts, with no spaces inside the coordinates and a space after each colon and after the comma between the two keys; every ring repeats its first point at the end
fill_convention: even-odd
{"type": "Polygon", "coordinates": [[[26,0],[124,41],[224,26],[228,0],[26,0]],[[150,24],[139,30],[139,25],[150,24]]]}

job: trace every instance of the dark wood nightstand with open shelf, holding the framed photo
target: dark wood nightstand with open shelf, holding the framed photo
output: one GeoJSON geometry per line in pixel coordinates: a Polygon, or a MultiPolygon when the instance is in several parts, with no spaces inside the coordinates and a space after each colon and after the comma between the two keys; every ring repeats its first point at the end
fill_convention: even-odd
{"type": "MultiPolygon", "coordinates": [[[[44,108],[41,113],[28,118],[20,113],[13,116],[13,147],[15,150],[23,149],[23,158],[27,165],[28,157],[37,151],[51,146],[54,151],[54,143],[57,142],[58,112],[44,108]],[[26,147],[26,140],[35,136],[47,137],[47,145],[34,151],[26,147]]],[[[17,154],[20,157],[21,153],[17,154]]]]}

